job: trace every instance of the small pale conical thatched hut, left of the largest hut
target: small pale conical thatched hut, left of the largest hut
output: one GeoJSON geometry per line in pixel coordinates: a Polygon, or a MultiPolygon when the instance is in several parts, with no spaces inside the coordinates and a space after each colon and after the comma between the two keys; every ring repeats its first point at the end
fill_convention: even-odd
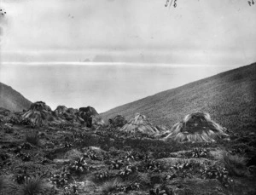
{"type": "Polygon", "coordinates": [[[131,118],[131,120],[126,123],[120,131],[135,134],[140,133],[143,135],[159,134],[159,130],[148,122],[146,116],[139,113],[136,114],[135,118],[131,118]]]}

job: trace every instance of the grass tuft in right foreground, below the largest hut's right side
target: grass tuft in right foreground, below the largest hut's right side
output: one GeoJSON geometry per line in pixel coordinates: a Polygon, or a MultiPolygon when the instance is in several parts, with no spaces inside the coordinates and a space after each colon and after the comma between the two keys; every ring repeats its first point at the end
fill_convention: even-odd
{"type": "Polygon", "coordinates": [[[224,151],[219,156],[219,160],[221,163],[224,163],[230,175],[242,176],[245,174],[244,169],[246,168],[247,158],[224,151]]]}

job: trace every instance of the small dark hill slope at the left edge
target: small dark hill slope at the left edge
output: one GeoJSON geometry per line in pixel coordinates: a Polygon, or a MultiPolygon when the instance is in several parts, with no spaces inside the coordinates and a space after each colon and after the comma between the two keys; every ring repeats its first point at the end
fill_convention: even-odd
{"type": "Polygon", "coordinates": [[[0,83],[0,107],[10,111],[18,112],[28,109],[31,101],[20,95],[15,89],[6,84],[0,83]]]}

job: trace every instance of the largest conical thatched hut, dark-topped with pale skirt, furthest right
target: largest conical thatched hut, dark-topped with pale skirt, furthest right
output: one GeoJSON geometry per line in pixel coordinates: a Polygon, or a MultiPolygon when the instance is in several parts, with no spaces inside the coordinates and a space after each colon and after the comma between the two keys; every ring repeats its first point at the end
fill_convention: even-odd
{"type": "Polygon", "coordinates": [[[163,139],[179,142],[212,142],[219,138],[227,138],[224,128],[215,123],[205,112],[195,112],[176,123],[163,139]]]}

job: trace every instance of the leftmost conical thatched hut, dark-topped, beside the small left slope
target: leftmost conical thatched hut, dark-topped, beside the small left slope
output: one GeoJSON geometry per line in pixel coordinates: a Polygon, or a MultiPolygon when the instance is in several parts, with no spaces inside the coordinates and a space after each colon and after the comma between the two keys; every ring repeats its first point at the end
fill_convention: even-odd
{"type": "Polygon", "coordinates": [[[52,111],[43,101],[33,103],[21,118],[28,119],[33,125],[41,126],[48,123],[61,123],[52,115],[52,111]]]}

